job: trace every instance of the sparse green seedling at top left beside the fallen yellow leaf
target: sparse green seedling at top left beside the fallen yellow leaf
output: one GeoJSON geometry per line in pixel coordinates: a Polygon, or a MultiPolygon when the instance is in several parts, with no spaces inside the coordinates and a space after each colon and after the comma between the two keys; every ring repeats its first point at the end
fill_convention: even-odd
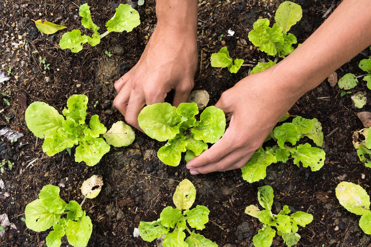
{"type": "Polygon", "coordinates": [[[79,15],[82,17],[81,24],[86,29],[92,30],[92,36],[81,35],[78,29],[72,30],[63,34],[59,41],[59,46],[62,49],[70,49],[73,53],[82,50],[82,45],[89,43],[91,46],[96,46],[101,42],[101,39],[111,32],[121,33],[123,31],[130,32],[140,24],[139,13],[128,4],[120,4],[116,8],[116,13],[107,21],[107,31],[100,34],[99,27],[93,23],[89,5],[82,4],[79,8],[79,15]]]}

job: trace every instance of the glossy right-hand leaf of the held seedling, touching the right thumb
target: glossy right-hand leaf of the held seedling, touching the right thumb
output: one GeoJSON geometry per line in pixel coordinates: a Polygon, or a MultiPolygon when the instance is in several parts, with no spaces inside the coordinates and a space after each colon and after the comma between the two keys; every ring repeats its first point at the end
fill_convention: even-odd
{"type": "Polygon", "coordinates": [[[191,129],[194,138],[206,143],[216,143],[226,130],[226,116],[215,106],[206,107],[201,113],[198,126],[191,129]]]}

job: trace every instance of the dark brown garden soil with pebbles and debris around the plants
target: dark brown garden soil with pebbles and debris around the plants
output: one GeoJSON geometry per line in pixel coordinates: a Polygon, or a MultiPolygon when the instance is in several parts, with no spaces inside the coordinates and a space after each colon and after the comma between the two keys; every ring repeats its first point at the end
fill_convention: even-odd
{"type": "MultiPolygon", "coordinates": [[[[265,53],[252,46],[247,33],[258,18],[273,21],[279,2],[199,1],[198,48],[203,66],[196,73],[195,90],[209,92],[209,105],[215,104],[223,91],[247,76],[249,71],[245,66],[237,74],[229,74],[226,69],[217,70],[210,66],[211,53],[222,47],[220,34],[224,34],[223,41],[232,57],[236,54],[245,60],[245,64],[267,59],[265,53]],[[226,36],[229,29],[236,32],[234,36],[226,36]]],[[[340,1],[296,2],[303,8],[303,19],[292,28],[292,33],[298,43],[302,43],[328,17],[322,17],[326,11],[330,7],[336,8],[340,1]]],[[[79,188],[92,174],[103,176],[104,187],[97,198],[86,200],[83,205],[93,223],[90,247],[154,246],[154,243],[133,237],[134,227],[138,227],[140,220],[156,220],[162,208],[173,206],[175,186],[184,178],[196,186],[196,203],[210,209],[210,222],[198,232],[219,246],[252,245],[252,237],[261,224],[244,214],[244,208],[257,204],[257,187],[265,184],[270,184],[275,191],[275,211],[287,204],[294,211],[313,214],[313,222],[299,230],[302,239],[297,246],[371,246],[370,235],[364,234],[358,226],[359,216],[349,213],[335,198],[335,187],[344,180],[360,184],[371,194],[370,168],[359,163],[351,143],[352,132],[362,128],[356,116],[361,110],[352,106],[349,94],[341,97],[341,90],[337,86],[332,88],[327,81],[305,94],[290,110],[293,115],[316,117],[322,123],[326,161],[317,172],[298,168],[288,161],[269,166],[266,179],[253,184],[242,179],[240,170],[191,176],[184,162],[178,167],[161,163],[156,153],[163,143],[138,131],[134,143],[128,147],[111,148],[94,167],[76,163],[73,149],[71,156],[67,151],[53,157],[44,154],[42,140],[26,127],[26,107],[33,101],[45,101],[62,111],[69,96],[86,94],[89,97],[88,117],[98,114],[108,128],[115,121],[124,120],[112,106],[113,83],[138,61],[155,28],[155,1],[146,0],[143,6],[137,6],[135,1],[131,4],[141,16],[139,27],[131,33],[111,33],[99,45],[86,46],[80,53],[73,54],[58,47],[64,30],[55,35],[44,35],[30,20],[46,19],[68,26],[68,30],[82,30],[78,6],[83,3],[86,1],[3,0],[0,4],[1,71],[11,67],[13,73],[10,80],[1,84],[1,92],[4,90],[4,98],[9,100],[10,106],[1,101],[0,124],[24,134],[15,143],[5,138],[0,142],[0,159],[14,162],[11,170],[5,167],[4,173],[0,173],[5,185],[0,189],[0,214],[6,213],[17,228],[6,231],[0,246],[42,247],[48,231],[36,233],[26,228],[22,221],[26,204],[35,200],[46,184],[61,186],[64,200],[81,202],[79,188]],[[113,56],[106,56],[106,50],[113,56]],[[40,56],[46,58],[50,70],[43,69],[40,56]]],[[[88,3],[93,20],[103,31],[118,4],[127,2],[96,0],[88,3]]],[[[365,50],[344,64],[337,70],[339,78],[349,72],[362,74],[357,64],[370,55],[370,50],[365,50]]],[[[365,83],[359,83],[351,91],[368,90],[365,83]]],[[[370,106],[368,103],[362,111],[369,111],[370,106]]],[[[273,246],[282,245],[282,239],[276,237],[273,246]]],[[[66,238],[62,239],[62,246],[68,246],[66,238]]]]}

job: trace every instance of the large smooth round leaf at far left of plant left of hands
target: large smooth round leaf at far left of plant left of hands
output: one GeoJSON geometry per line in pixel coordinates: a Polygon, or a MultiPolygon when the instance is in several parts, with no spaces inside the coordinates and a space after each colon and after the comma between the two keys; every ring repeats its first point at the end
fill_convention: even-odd
{"type": "Polygon", "coordinates": [[[62,127],[65,120],[54,107],[40,101],[33,102],[27,107],[24,118],[29,130],[39,138],[51,136],[62,127]]]}

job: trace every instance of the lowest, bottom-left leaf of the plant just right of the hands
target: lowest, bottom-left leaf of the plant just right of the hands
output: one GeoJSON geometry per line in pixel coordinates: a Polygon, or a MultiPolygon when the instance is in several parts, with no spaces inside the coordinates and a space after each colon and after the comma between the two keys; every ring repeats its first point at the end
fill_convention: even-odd
{"type": "Polygon", "coordinates": [[[276,162],[276,157],[261,147],[247,161],[246,166],[241,168],[242,178],[249,183],[259,181],[267,176],[267,166],[276,162]]]}

